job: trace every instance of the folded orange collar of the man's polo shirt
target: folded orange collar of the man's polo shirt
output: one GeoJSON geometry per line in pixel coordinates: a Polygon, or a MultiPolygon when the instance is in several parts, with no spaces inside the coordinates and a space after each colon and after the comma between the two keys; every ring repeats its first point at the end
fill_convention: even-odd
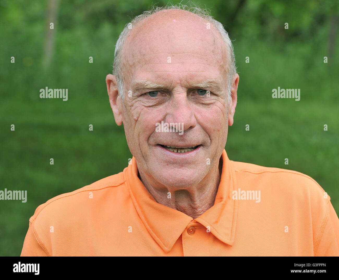
{"type": "Polygon", "coordinates": [[[129,189],[133,204],[159,246],[167,253],[182,234],[186,226],[196,221],[208,228],[225,244],[232,245],[235,236],[238,200],[232,199],[236,187],[235,174],[226,151],[222,152],[222,173],[214,205],[194,219],[186,214],[157,203],[138,177],[136,159],[124,169],[124,180],[129,189]]]}

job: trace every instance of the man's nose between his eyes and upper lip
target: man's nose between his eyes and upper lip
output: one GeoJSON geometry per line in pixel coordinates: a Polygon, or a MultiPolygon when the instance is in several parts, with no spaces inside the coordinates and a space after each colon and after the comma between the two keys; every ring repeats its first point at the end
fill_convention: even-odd
{"type": "Polygon", "coordinates": [[[183,90],[173,93],[173,98],[168,103],[164,122],[182,123],[183,131],[197,125],[192,104],[188,101],[187,93],[183,90]]]}

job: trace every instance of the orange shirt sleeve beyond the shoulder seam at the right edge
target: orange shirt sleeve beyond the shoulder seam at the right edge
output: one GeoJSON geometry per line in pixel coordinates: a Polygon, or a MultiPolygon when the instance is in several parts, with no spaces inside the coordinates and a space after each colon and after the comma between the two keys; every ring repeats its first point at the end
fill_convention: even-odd
{"type": "Polygon", "coordinates": [[[328,201],[328,208],[328,219],[315,256],[339,256],[339,219],[330,201],[328,201]]]}

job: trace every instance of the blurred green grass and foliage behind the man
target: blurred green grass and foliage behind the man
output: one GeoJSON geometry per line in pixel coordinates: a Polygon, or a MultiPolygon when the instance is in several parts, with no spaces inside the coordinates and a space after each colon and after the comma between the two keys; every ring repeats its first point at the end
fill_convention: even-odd
{"type": "MultiPolygon", "coordinates": [[[[228,157],[313,177],[339,213],[338,22],[333,25],[337,41],[331,43],[337,2],[195,3],[210,9],[234,40],[240,82],[228,157]],[[245,63],[247,56],[250,63],[245,63]],[[278,86],[300,88],[300,101],[272,99],[278,86]]],[[[0,201],[1,256],[20,255],[28,219],[38,205],[127,166],[132,155],[123,126],[114,122],[105,76],[112,73],[114,46],[124,25],[150,4],[61,0],[55,52],[44,70],[48,1],[0,0],[0,189],[27,190],[28,197],[26,203],[0,201]],[[90,56],[93,63],[88,63],[90,56]],[[68,101],[40,99],[39,90],[46,86],[68,88],[68,101]]]]}

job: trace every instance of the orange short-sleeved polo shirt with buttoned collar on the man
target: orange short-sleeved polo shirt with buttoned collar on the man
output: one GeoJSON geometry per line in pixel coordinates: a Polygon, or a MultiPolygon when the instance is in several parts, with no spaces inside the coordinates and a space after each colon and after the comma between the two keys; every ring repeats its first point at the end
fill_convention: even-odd
{"type": "Polygon", "coordinates": [[[315,180],[222,160],[215,203],[196,219],[157,203],[132,158],[40,205],[21,256],[339,256],[338,216],[315,180]]]}

